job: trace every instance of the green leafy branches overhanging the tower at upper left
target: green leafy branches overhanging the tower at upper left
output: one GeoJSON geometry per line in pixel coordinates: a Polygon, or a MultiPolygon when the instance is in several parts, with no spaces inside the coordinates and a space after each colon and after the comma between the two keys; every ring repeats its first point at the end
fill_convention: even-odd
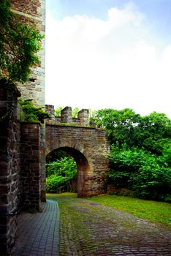
{"type": "Polygon", "coordinates": [[[42,35],[35,26],[21,23],[10,6],[9,0],[1,0],[0,76],[25,82],[31,67],[39,64],[42,35]]]}

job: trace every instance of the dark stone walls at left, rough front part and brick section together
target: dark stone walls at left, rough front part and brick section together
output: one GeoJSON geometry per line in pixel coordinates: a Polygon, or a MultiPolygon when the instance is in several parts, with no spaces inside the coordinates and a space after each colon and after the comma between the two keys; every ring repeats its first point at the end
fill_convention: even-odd
{"type": "Polygon", "coordinates": [[[0,255],[15,244],[20,209],[39,211],[40,204],[40,125],[18,121],[19,96],[0,80],[0,255]]]}

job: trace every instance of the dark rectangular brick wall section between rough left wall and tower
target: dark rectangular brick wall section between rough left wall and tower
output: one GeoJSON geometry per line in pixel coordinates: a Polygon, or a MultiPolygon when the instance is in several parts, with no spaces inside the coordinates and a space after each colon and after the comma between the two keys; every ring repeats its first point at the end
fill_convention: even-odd
{"type": "Polygon", "coordinates": [[[23,209],[39,211],[40,203],[40,125],[21,123],[20,159],[23,209]]]}

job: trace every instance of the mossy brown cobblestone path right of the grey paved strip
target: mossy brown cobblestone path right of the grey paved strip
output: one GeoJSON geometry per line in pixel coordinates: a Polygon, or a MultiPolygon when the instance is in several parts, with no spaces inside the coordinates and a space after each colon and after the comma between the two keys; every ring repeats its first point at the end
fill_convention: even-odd
{"type": "Polygon", "coordinates": [[[171,233],[167,227],[88,200],[57,200],[60,256],[171,255],[171,233]]]}

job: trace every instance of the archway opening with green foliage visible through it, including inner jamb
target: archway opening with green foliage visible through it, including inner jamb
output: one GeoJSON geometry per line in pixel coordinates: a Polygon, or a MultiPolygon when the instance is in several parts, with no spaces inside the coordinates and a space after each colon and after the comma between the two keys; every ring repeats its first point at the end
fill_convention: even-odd
{"type": "Polygon", "coordinates": [[[60,147],[47,154],[46,159],[47,192],[77,192],[78,197],[86,195],[89,165],[80,151],[60,147]]]}

